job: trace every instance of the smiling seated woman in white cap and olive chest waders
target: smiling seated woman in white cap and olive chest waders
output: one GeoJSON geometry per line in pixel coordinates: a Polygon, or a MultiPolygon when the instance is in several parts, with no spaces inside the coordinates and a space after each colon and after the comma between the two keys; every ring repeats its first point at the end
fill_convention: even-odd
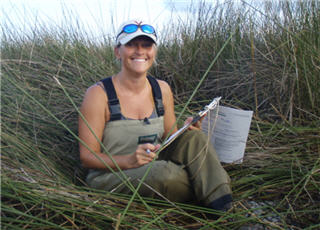
{"type": "Polygon", "coordinates": [[[142,21],[124,23],[114,53],[121,71],[91,86],[79,119],[80,159],[89,168],[87,183],[97,189],[174,202],[198,201],[216,210],[231,207],[230,179],[216,152],[200,131],[200,122],[157,155],[160,143],[177,131],[170,86],[147,75],[157,52],[154,27],[142,21]],[[103,143],[103,146],[100,144],[103,143]],[[112,159],[109,153],[112,155],[112,159]],[[115,171],[115,172],[111,172],[115,171]]]}

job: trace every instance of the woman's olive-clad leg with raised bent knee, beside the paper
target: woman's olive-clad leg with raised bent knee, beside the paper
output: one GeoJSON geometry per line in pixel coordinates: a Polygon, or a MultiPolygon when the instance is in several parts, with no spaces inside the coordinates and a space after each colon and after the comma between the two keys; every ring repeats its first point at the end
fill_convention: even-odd
{"type": "Polygon", "coordinates": [[[185,166],[199,202],[215,209],[231,205],[230,178],[202,131],[186,131],[160,153],[160,158],[185,166]]]}

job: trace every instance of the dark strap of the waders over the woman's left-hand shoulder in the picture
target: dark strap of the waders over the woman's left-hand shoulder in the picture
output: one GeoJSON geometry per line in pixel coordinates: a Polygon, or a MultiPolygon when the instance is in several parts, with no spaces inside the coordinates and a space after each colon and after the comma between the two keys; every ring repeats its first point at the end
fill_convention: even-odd
{"type": "Polygon", "coordinates": [[[104,89],[108,96],[110,121],[120,120],[121,119],[120,103],[117,97],[116,90],[114,89],[114,86],[112,83],[112,77],[107,77],[105,79],[102,79],[101,82],[103,83],[104,89]]]}

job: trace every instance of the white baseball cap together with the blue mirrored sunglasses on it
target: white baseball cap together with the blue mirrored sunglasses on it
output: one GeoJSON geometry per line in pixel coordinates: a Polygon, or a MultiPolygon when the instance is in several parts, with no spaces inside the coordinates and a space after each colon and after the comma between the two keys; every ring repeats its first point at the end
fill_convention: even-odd
{"type": "Polygon", "coordinates": [[[125,45],[138,36],[147,36],[157,44],[157,35],[154,26],[142,20],[130,20],[123,23],[118,29],[116,44],[125,45]],[[133,28],[133,30],[129,29],[128,32],[126,32],[125,29],[128,28],[129,25],[131,25],[130,29],[133,28]]]}

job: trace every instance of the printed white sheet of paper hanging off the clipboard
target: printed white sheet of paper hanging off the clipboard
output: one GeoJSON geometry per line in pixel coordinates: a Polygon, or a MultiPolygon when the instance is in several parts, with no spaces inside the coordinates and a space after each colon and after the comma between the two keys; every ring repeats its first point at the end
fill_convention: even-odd
{"type": "Polygon", "coordinates": [[[203,120],[202,130],[211,137],[221,162],[242,162],[252,113],[252,111],[219,106],[210,111],[203,120]]]}

